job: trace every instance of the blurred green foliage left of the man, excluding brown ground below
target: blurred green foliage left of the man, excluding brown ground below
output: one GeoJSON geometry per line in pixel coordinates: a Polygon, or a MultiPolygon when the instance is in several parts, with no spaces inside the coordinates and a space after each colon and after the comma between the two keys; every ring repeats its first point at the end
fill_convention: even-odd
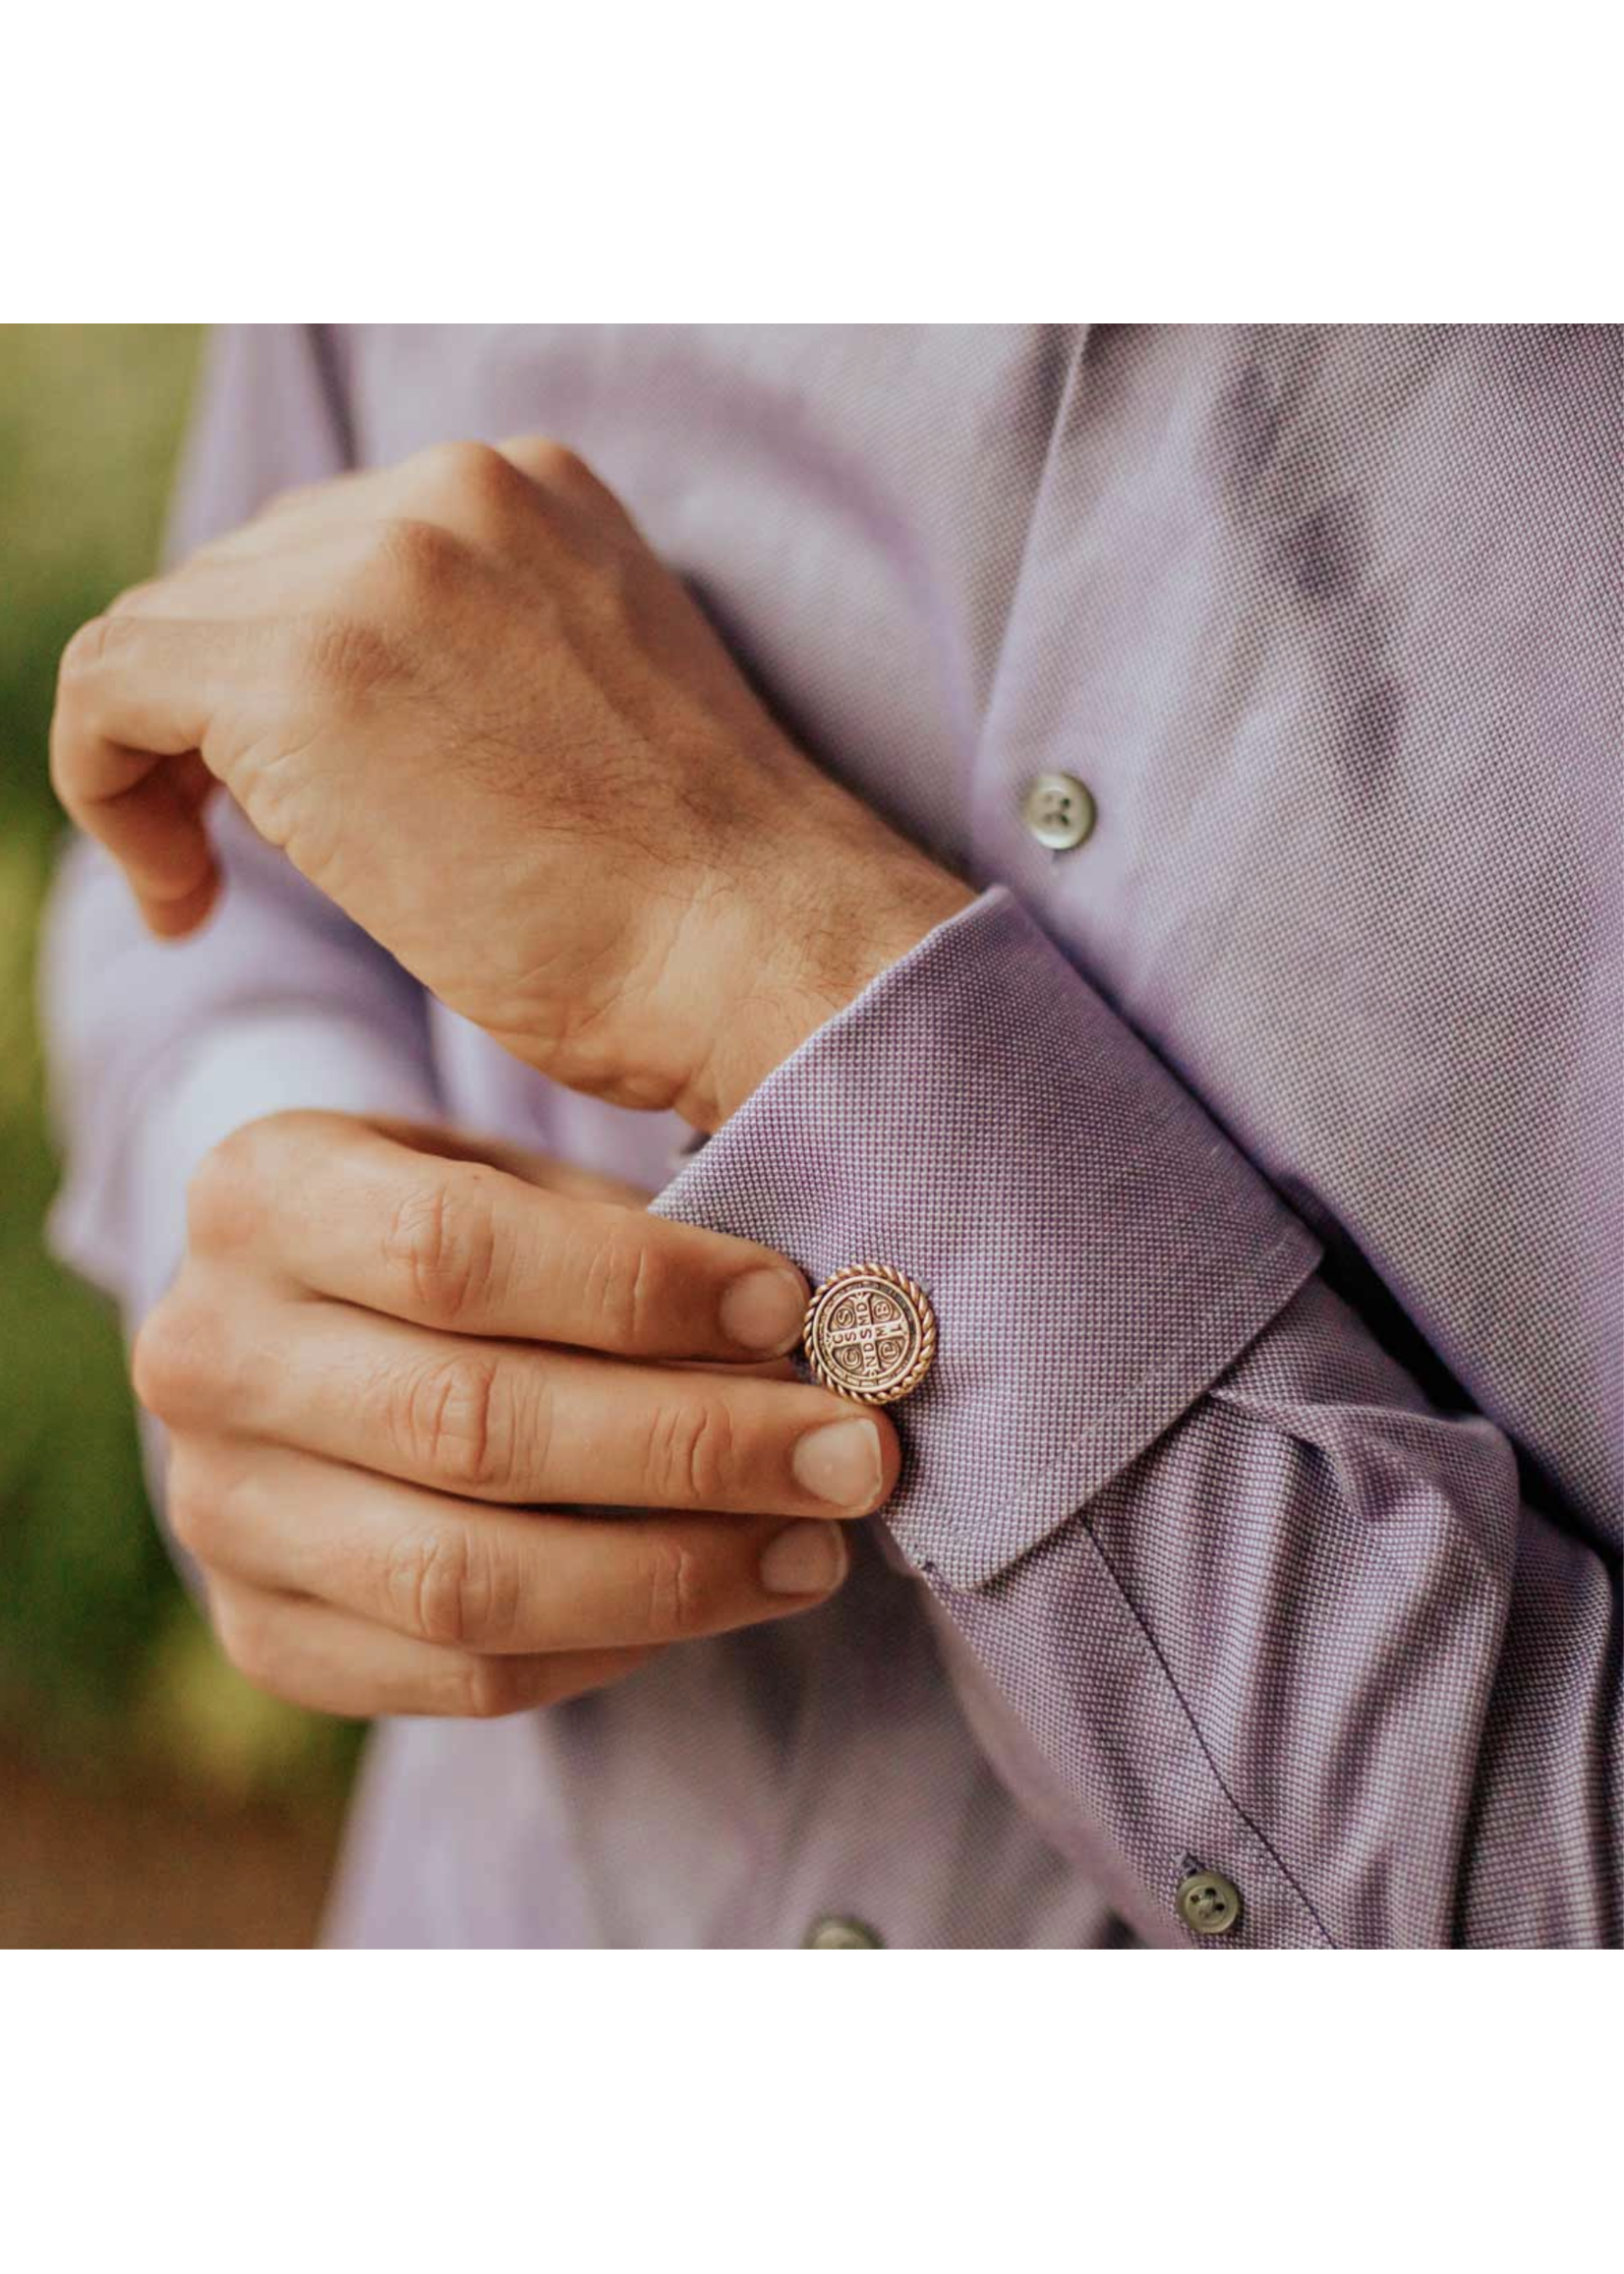
{"type": "Polygon", "coordinates": [[[41,1242],[57,655],[157,562],[200,341],[193,323],[0,325],[0,1733],[86,1774],[141,1758],[241,1796],[325,1796],[350,1733],[214,1651],[146,1508],[118,1323],[41,1242]]]}

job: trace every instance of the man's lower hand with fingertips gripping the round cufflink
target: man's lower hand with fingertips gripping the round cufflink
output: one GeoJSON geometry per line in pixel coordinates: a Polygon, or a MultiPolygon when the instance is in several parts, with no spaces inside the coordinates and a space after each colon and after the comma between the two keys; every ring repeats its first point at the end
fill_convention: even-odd
{"type": "Polygon", "coordinates": [[[325,1712],[498,1715],[828,1596],[828,1519],[878,1508],[898,1449],[771,1364],[801,1276],[600,1178],[455,1155],[273,1114],[191,1187],[134,1378],[230,1658],[325,1712]]]}

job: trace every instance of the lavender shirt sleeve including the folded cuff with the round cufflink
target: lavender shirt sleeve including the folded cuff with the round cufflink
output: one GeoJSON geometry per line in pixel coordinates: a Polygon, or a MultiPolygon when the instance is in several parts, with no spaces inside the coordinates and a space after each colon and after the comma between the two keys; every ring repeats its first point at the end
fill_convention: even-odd
{"type": "Polygon", "coordinates": [[[1615,1567],[1522,1505],[1492,1421],[1428,1403],[1008,891],[657,1207],[930,1294],[883,1521],[983,1742],[1017,1790],[1030,1756],[1144,1940],[1617,1942],[1615,1567]],[[1196,1874],[1240,1892],[1221,1935],[1196,1874]]]}

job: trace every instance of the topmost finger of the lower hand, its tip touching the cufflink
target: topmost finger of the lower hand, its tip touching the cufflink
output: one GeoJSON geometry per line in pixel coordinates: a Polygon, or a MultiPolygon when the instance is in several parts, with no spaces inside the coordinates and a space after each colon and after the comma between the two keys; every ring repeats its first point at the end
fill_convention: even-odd
{"type": "Polygon", "coordinates": [[[616,1358],[773,1358],[807,1283],[751,1239],[548,1192],[341,1114],[239,1130],[191,1189],[193,1246],[259,1242],[300,1289],[457,1335],[616,1358]]]}

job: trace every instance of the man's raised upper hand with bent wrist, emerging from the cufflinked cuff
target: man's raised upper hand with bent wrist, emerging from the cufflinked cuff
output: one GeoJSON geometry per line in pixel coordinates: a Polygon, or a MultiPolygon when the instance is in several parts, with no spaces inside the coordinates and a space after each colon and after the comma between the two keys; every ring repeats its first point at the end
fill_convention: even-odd
{"type": "Polygon", "coordinates": [[[971,898],[544,441],[289,493],[127,591],[61,659],[52,773],[152,930],[209,912],[223,782],[514,1055],[698,1128],[971,898]]]}

